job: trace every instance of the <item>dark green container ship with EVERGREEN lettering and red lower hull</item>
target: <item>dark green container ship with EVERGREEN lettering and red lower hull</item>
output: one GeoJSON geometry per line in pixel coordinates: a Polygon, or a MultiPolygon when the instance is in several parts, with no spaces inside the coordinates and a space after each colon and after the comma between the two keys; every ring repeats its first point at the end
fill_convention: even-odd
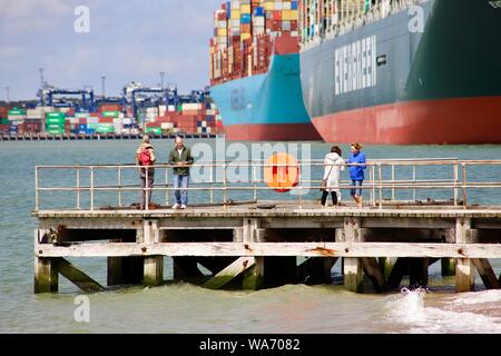
{"type": "Polygon", "coordinates": [[[501,142],[500,1],[299,8],[303,98],[325,141],[501,142]]]}

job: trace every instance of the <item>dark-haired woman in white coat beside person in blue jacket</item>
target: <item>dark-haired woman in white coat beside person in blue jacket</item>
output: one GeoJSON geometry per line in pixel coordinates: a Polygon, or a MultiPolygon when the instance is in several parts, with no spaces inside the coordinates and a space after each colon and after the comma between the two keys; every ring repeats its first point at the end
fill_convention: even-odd
{"type": "Polygon", "coordinates": [[[341,200],[340,177],[341,171],[344,170],[344,159],[341,157],[343,152],[338,146],[331,149],[324,159],[324,178],[322,180],[322,206],[327,202],[328,194],[331,192],[332,202],[337,206],[341,200]]]}

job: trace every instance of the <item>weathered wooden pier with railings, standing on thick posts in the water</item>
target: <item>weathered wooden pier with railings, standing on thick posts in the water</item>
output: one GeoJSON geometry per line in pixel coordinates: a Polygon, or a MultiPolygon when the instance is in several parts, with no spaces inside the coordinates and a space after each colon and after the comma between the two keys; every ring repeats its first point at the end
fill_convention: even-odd
{"type": "MultiPolygon", "coordinates": [[[[381,171],[384,162],[370,165],[381,171]]],[[[363,209],[346,204],[325,208],[299,197],[299,201],[225,199],[225,204],[199,204],[186,210],[173,210],[168,201],[148,210],[130,206],[99,208],[92,200],[99,189],[117,191],[118,201],[122,201],[124,187],[112,187],[109,182],[100,187],[95,181],[94,166],[90,187],[40,187],[39,170],[48,167],[38,167],[32,212],[39,221],[35,230],[35,291],[57,291],[59,275],[87,291],[106,289],[67,260],[72,257],[107,257],[108,286],[158,286],[165,283],[166,256],[174,260],[175,280],[207,288],[331,284],[331,270],[340,259],[344,286],[355,293],[390,291],[402,286],[407,276],[406,286],[425,287],[429,267],[435,263],[441,264],[443,276],[455,275],[458,291],[474,290],[477,273],[485,288],[499,288],[501,276],[490,260],[501,258],[501,207],[468,206],[466,192],[471,188],[499,189],[501,185],[468,181],[468,162],[452,165],[463,167],[462,181],[455,174],[454,180],[446,184],[419,179],[402,182],[393,178],[390,184],[381,175],[373,177],[364,187],[374,194],[363,209]],[[381,200],[384,189],[432,185],[451,188],[458,197],[462,190],[463,200],[449,204],[381,200]],[[58,189],[77,192],[77,208],[40,208],[39,194],[58,189]],[[90,191],[90,208],[80,207],[84,191],[90,191]],[[203,275],[199,265],[212,275],[203,275]]],[[[232,188],[228,185],[225,180],[222,187],[205,185],[189,189],[214,189],[212,199],[213,192],[226,197],[226,189],[232,188]]],[[[168,186],[155,189],[174,190],[168,186]]],[[[257,189],[256,197],[258,189],[269,196],[269,188],[258,188],[256,184],[254,189],[257,189]]]]}

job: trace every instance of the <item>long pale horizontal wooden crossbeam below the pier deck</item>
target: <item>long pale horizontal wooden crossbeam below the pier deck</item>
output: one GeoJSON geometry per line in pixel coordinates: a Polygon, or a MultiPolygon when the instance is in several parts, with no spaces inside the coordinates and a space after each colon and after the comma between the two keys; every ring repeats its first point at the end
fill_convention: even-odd
{"type": "Polygon", "coordinates": [[[304,256],[501,258],[500,244],[414,243],[161,243],[36,246],[36,257],[304,256]]]}

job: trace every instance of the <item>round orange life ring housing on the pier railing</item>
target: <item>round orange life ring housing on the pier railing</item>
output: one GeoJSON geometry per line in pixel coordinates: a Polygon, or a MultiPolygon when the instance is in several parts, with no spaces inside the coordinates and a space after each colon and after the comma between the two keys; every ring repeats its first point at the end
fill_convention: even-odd
{"type": "Polygon", "coordinates": [[[299,184],[299,165],[297,159],[287,154],[275,154],[264,167],[264,180],[277,192],[287,192],[299,184]]]}

